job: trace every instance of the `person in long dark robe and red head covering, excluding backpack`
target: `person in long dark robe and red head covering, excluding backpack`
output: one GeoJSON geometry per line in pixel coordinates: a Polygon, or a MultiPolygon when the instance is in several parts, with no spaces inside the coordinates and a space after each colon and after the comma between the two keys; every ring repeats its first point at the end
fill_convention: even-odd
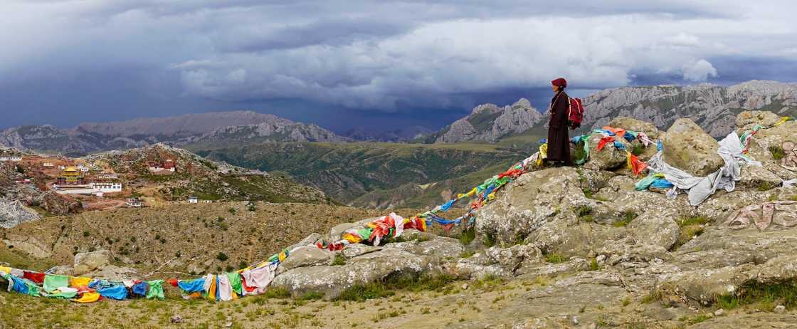
{"type": "Polygon", "coordinates": [[[547,163],[573,165],[570,158],[570,137],[567,136],[567,110],[570,108],[570,97],[564,92],[567,80],[563,77],[551,81],[554,95],[551,99],[551,119],[548,121],[548,159],[547,163]]]}

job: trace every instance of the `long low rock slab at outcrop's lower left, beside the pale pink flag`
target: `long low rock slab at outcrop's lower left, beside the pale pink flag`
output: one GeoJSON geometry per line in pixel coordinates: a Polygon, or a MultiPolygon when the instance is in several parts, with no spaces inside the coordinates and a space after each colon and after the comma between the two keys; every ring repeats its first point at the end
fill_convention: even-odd
{"type": "Polygon", "coordinates": [[[288,289],[295,296],[310,291],[320,292],[332,299],[355,284],[376,282],[389,275],[441,271],[436,257],[418,256],[391,248],[357,256],[344,265],[293,268],[277,275],[271,287],[288,289]]]}

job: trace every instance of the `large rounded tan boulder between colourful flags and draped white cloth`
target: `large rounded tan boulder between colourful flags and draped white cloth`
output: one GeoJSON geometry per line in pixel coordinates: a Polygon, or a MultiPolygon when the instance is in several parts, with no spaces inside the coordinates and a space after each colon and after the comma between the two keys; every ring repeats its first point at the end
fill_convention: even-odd
{"type": "Polygon", "coordinates": [[[662,139],[664,160],[693,176],[706,176],[724,165],[720,145],[689,119],[678,119],[662,139]]]}

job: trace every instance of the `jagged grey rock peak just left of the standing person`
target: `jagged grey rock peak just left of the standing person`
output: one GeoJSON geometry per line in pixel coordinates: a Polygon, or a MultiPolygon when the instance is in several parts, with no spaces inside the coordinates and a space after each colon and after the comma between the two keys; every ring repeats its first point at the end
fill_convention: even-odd
{"type": "Polygon", "coordinates": [[[525,98],[503,108],[493,104],[478,105],[467,117],[454,121],[438,133],[434,142],[497,141],[508,134],[523,133],[543,119],[540,111],[525,98]]]}

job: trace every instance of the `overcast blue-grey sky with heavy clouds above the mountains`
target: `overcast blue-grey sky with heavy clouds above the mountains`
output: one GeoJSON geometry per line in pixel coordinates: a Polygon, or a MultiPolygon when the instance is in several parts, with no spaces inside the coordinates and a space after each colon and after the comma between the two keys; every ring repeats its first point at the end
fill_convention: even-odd
{"type": "Polygon", "coordinates": [[[797,80],[794,1],[2,0],[0,128],[253,109],[341,131],[623,85],[797,80]]]}

